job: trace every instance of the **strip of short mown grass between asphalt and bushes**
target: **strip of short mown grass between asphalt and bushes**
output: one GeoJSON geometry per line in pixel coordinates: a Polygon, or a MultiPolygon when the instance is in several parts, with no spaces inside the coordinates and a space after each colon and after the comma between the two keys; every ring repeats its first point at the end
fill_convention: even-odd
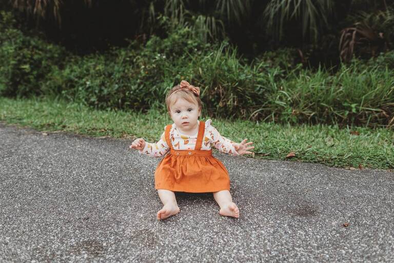
{"type": "MultiPolygon", "coordinates": [[[[93,137],[144,137],[148,141],[158,140],[164,126],[171,123],[167,114],[155,110],[145,114],[104,111],[62,100],[4,97],[0,97],[0,120],[41,131],[61,130],[93,137]]],[[[235,141],[243,138],[253,141],[255,158],[298,160],[346,168],[394,168],[392,129],[290,126],[215,118],[212,121],[223,136],[235,141]],[[286,158],[290,152],[294,152],[295,157],[286,158]]]]}

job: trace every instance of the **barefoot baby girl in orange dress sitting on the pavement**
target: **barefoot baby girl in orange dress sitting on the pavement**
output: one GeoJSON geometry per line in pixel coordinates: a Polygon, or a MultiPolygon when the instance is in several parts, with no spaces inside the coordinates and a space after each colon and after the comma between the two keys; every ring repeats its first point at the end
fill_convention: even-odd
{"type": "Polygon", "coordinates": [[[175,192],[213,192],[220,206],[219,214],[239,217],[240,211],[232,201],[230,178],[222,162],[212,156],[211,145],[222,153],[231,155],[251,154],[252,143],[244,139],[233,143],[220,135],[208,119],[199,121],[201,99],[199,87],[185,80],[173,87],[166,96],[168,113],[173,120],[167,125],[157,143],[145,142],[143,138],[133,141],[130,148],[153,157],[165,156],[154,174],[155,189],[163,202],[157,219],[164,219],[180,209],[175,192]],[[168,153],[169,152],[169,153],[168,153]],[[168,153],[166,155],[166,153],[168,153]]]}

